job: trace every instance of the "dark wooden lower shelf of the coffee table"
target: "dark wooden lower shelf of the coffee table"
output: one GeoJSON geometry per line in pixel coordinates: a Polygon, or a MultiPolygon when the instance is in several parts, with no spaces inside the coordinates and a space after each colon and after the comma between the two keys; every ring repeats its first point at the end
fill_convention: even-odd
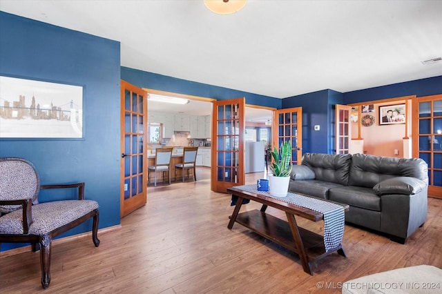
{"type": "MultiPolygon", "coordinates": [[[[258,235],[280,244],[294,253],[298,253],[288,222],[273,215],[263,213],[260,210],[239,213],[238,217],[236,217],[236,222],[258,233],[258,235]]],[[[300,228],[299,226],[298,231],[310,261],[329,254],[325,253],[323,236],[308,231],[305,228],[300,228]]],[[[338,249],[339,248],[336,248],[336,250],[338,249]]]]}

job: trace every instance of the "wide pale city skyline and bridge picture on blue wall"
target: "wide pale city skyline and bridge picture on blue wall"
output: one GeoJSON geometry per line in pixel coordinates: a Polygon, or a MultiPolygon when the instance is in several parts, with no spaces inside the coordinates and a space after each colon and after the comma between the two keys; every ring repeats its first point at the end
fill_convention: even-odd
{"type": "Polygon", "coordinates": [[[0,75],[0,138],[83,138],[83,93],[83,86],[0,75]]]}

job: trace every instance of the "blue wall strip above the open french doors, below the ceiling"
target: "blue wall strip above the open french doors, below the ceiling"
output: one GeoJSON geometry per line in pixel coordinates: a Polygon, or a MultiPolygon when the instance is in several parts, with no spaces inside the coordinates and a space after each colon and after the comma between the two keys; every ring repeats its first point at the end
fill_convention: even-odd
{"type": "Polygon", "coordinates": [[[281,108],[281,99],[278,98],[201,84],[195,81],[186,81],[184,79],[167,77],[152,72],[125,68],[124,66],[122,67],[122,79],[139,88],[163,90],[185,95],[208,97],[217,100],[245,97],[246,104],[268,106],[278,109],[281,108]]]}

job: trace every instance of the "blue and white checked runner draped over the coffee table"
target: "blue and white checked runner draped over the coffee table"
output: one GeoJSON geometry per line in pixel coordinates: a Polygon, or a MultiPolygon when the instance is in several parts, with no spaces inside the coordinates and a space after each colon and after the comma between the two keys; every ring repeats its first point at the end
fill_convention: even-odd
{"type": "Polygon", "coordinates": [[[256,185],[235,186],[247,192],[264,195],[282,202],[287,202],[303,208],[308,208],[324,215],[324,245],[325,251],[336,249],[343,241],[345,210],[343,206],[326,202],[318,198],[307,197],[294,193],[287,193],[287,197],[276,197],[270,195],[269,192],[258,191],[256,185]]]}

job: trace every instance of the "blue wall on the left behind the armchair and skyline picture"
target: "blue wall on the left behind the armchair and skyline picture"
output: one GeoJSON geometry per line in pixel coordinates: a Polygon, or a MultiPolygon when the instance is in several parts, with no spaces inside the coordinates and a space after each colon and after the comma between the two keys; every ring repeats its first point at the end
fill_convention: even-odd
{"type": "MultiPolygon", "coordinates": [[[[119,50],[117,41],[0,12],[0,75],[84,86],[85,126],[84,139],[1,138],[0,157],[32,161],[41,184],[86,182],[100,228],[119,224],[119,50]]],[[[41,191],[41,202],[48,197],[41,191]]],[[[89,221],[66,235],[91,228],[89,221]]]]}

